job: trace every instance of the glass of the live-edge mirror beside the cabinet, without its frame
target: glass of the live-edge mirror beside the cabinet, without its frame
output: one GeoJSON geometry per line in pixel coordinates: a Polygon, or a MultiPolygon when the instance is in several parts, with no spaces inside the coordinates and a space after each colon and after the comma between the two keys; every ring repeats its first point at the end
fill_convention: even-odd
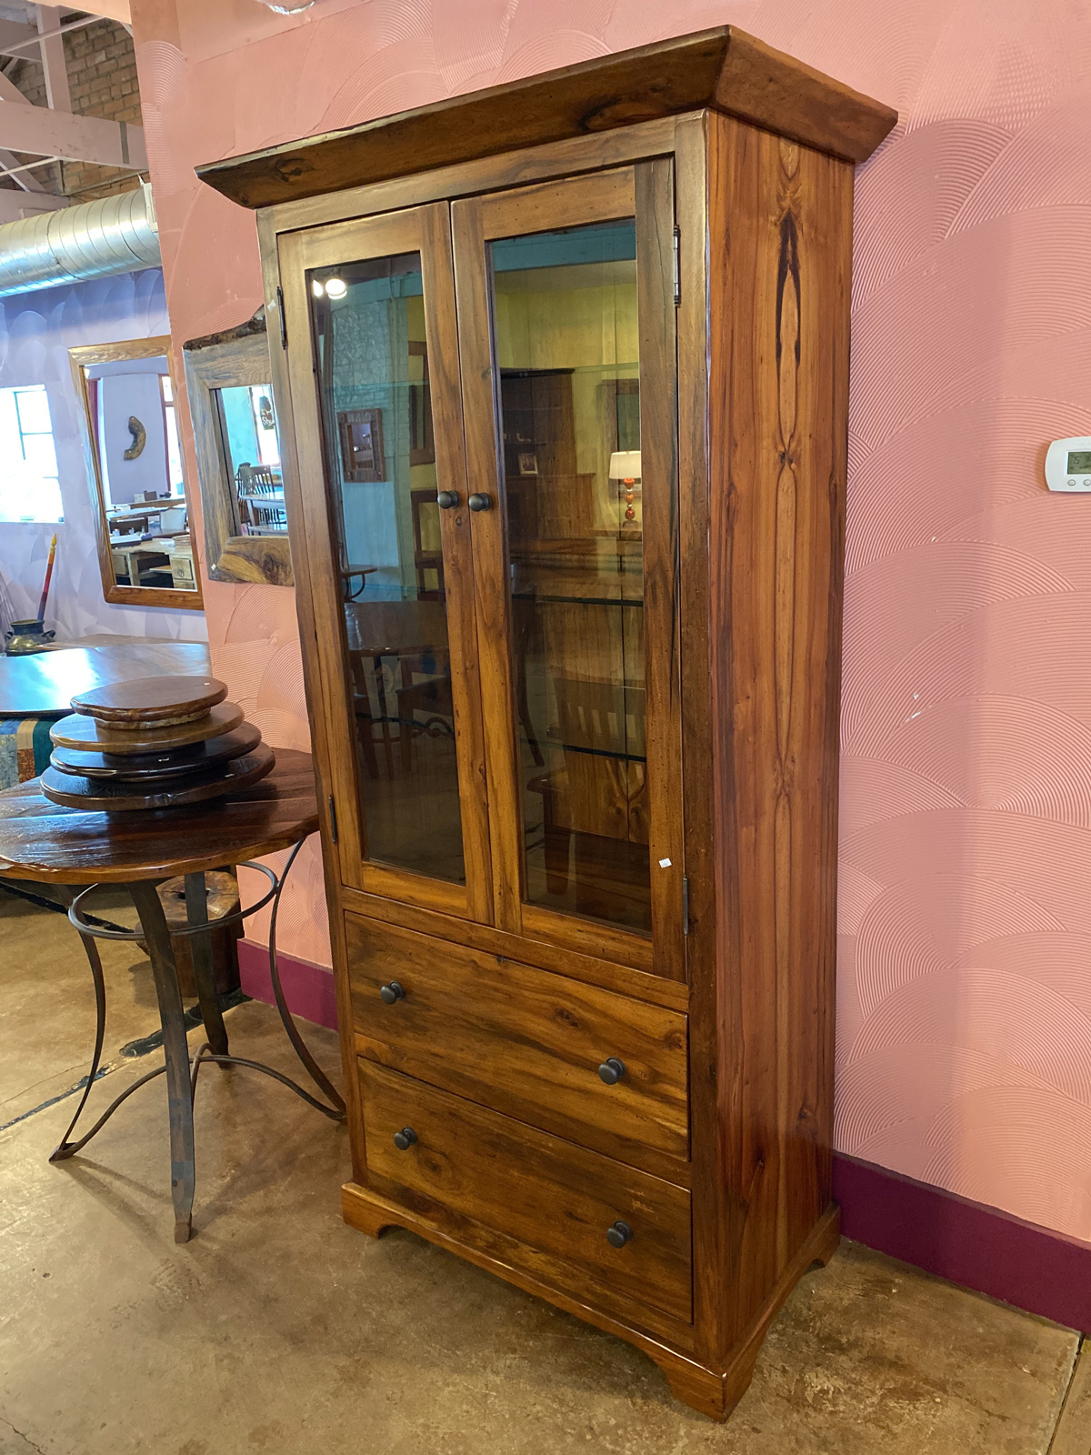
{"type": "Polygon", "coordinates": [[[234,493],[236,535],[287,535],[281,445],[271,384],[214,390],[234,493]]]}

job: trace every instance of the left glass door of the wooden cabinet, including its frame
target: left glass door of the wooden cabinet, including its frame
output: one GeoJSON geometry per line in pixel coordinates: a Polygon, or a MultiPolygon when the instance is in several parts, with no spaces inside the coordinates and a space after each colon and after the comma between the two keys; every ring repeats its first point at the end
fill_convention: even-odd
{"type": "Polygon", "coordinates": [[[310,377],[294,368],[292,397],[303,454],[324,461],[324,492],[304,495],[343,694],[332,770],[348,882],[487,920],[447,228],[445,207],[422,208],[297,244],[310,377]]]}

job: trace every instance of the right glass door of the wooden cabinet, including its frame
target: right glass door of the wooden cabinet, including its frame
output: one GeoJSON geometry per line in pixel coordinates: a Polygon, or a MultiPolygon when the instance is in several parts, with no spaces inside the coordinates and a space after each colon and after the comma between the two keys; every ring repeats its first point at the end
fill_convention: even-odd
{"type": "MultiPolygon", "coordinates": [[[[455,202],[455,269],[467,415],[487,410],[493,432],[473,533],[481,595],[505,623],[483,643],[499,642],[486,730],[502,720],[489,770],[505,927],[643,966],[658,938],[650,959],[674,973],[676,691],[653,703],[658,682],[676,682],[674,300],[656,303],[652,246],[674,217],[669,194],[659,217],[640,194],[626,170],[455,202]]],[[[474,483],[483,447],[471,438],[474,483]]]]}

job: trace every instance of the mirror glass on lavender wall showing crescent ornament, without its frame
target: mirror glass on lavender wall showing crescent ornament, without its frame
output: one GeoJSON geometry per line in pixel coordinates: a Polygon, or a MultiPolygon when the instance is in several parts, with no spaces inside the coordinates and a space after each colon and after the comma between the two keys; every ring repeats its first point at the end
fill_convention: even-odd
{"type": "Polygon", "coordinates": [[[83,374],[115,581],[196,591],[166,355],[87,364],[83,374]]]}

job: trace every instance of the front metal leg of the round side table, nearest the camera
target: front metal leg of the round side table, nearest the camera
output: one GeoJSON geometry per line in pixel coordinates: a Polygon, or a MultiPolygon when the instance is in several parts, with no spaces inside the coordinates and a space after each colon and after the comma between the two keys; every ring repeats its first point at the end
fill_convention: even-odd
{"type": "Polygon", "coordinates": [[[159,1014],[163,1023],[163,1051],[167,1062],[167,1104],[170,1107],[170,1196],[175,1203],[175,1243],[188,1243],[193,1216],[193,1088],[189,1080],[189,1042],[186,1040],[182,991],[177,988],[170,931],[151,880],[128,885],[132,904],[151,959],[159,1014]]]}

